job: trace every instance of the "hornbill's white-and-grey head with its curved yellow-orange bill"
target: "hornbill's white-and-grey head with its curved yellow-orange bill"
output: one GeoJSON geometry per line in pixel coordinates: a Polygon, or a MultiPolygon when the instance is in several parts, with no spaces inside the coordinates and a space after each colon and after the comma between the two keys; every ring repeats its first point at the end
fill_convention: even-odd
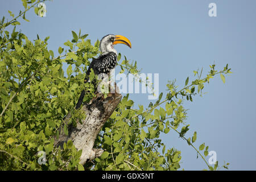
{"type": "Polygon", "coordinates": [[[104,36],[100,42],[100,49],[102,53],[115,52],[115,44],[125,44],[131,48],[131,42],[125,36],[109,34],[104,36]]]}

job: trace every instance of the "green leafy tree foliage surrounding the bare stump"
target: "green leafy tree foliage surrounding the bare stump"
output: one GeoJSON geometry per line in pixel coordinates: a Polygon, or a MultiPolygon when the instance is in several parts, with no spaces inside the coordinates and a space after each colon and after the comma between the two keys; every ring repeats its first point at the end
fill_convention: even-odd
{"type": "MultiPolygon", "coordinates": [[[[27,20],[30,9],[38,14],[38,3],[43,1],[22,0],[24,10],[7,21],[0,21],[0,169],[1,170],[177,170],[180,168],[181,151],[167,148],[159,138],[160,134],[176,132],[197,152],[210,170],[218,169],[218,163],[211,167],[205,160],[208,146],[196,147],[197,133],[185,137],[189,125],[183,102],[193,101],[210,78],[231,73],[228,65],[221,71],[210,65],[210,71],[202,77],[202,71],[194,71],[195,77],[185,80],[178,89],[174,81],[167,83],[167,95],[150,105],[139,105],[129,94],[122,98],[117,109],[102,128],[95,147],[104,148],[100,158],[93,163],[79,164],[81,150],[77,151],[71,140],[63,148],[53,147],[54,138],[69,111],[72,119],[67,125],[76,126],[77,118],[85,117],[75,104],[82,89],[89,90],[84,101],[94,97],[95,88],[89,82],[84,84],[86,68],[92,57],[99,52],[99,41],[91,44],[88,34],[72,31],[73,39],[59,47],[59,55],[47,48],[47,40],[39,35],[31,41],[22,32],[16,31],[19,19],[27,20]],[[63,65],[67,64],[67,70],[63,65]],[[64,76],[64,72],[67,76],[64,76]],[[190,81],[192,80],[192,81],[190,81]],[[39,163],[40,152],[44,151],[46,163],[39,163]]],[[[27,20],[28,21],[28,20],[27,20]]],[[[118,55],[118,61],[121,54],[118,55]]],[[[121,72],[138,73],[136,62],[119,61],[121,72]]],[[[94,75],[91,74],[90,78],[94,75]]],[[[63,130],[67,133],[67,125],[63,130]]],[[[68,133],[67,133],[68,134],[68,133]]],[[[224,164],[227,168],[228,164],[224,164]]]]}

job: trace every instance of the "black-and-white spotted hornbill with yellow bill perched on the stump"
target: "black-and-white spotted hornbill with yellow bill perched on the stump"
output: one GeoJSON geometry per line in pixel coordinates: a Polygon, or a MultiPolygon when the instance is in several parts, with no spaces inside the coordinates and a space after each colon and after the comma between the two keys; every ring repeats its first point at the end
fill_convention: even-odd
{"type": "MultiPolygon", "coordinates": [[[[115,44],[126,44],[131,48],[131,42],[125,36],[113,34],[104,36],[100,42],[100,51],[102,53],[96,59],[93,58],[88,70],[86,71],[84,83],[89,81],[91,69],[93,69],[95,75],[100,75],[101,73],[108,74],[115,68],[117,64],[117,51],[114,49],[115,44]]],[[[82,90],[76,104],[76,109],[79,109],[81,106],[84,95],[85,90],[82,90]]]]}

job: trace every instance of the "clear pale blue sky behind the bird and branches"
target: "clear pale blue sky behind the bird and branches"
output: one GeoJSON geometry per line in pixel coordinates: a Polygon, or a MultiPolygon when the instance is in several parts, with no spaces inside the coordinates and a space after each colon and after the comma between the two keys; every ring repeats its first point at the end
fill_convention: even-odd
{"type": "MultiPolygon", "coordinates": [[[[217,152],[219,164],[224,160],[232,170],[256,170],[256,1],[176,0],[176,1],[63,1],[46,2],[46,17],[27,13],[30,22],[16,30],[36,39],[50,36],[48,48],[58,55],[59,46],[72,39],[71,31],[89,34],[92,43],[106,34],[121,34],[130,39],[132,49],[115,46],[127,59],[137,60],[143,73],[159,73],[159,90],[166,94],[168,80],[179,88],[187,76],[215,63],[226,64],[233,74],[220,76],[206,84],[203,97],[184,102],[190,130],[197,131],[196,146],[203,142],[217,152]],[[216,3],[217,17],[209,17],[209,3],[216,3]]],[[[23,9],[18,0],[0,1],[0,16],[16,15],[23,9]]],[[[123,56],[122,56],[123,59],[123,56]]],[[[65,70],[65,68],[64,68],[65,70]]],[[[190,79],[191,80],[191,79],[190,79]]],[[[147,94],[130,94],[135,105],[148,105],[147,94]]],[[[167,147],[181,150],[181,169],[207,168],[187,142],[170,131],[161,135],[167,147]]],[[[209,157],[207,157],[207,160],[209,157]]]]}

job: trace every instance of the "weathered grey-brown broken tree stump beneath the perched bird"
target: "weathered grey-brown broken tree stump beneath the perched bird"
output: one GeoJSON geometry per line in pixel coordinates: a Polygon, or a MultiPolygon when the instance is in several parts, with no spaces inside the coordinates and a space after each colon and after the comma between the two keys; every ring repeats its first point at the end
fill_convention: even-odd
{"type": "MultiPolygon", "coordinates": [[[[118,89],[115,88],[115,90],[118,89]]],[[[55,146],[62,147],[64,142],[72,140],[77,150],[82,150],[80,157],[80,163],[82,165],[101,156],[104,150],[101,148],[93,148],[94,141],[102,126],[104,126],[105,122],[118,106],[121,98],[122,95],[118,92],[109,93],[106,98],[104,98],[104,94],[98,93],[89,104],[82,106],[82,110],[84,110],[86,114],[86,118],[82,121],[82,124],[77,122],[76,128],[70,126],[68,136],[64,133],[60,133],[59,139],[55,142],[55,146]]],[[[67,121],[69,118],[71,118],[70,113],[64,121],[67,121]]]]}

